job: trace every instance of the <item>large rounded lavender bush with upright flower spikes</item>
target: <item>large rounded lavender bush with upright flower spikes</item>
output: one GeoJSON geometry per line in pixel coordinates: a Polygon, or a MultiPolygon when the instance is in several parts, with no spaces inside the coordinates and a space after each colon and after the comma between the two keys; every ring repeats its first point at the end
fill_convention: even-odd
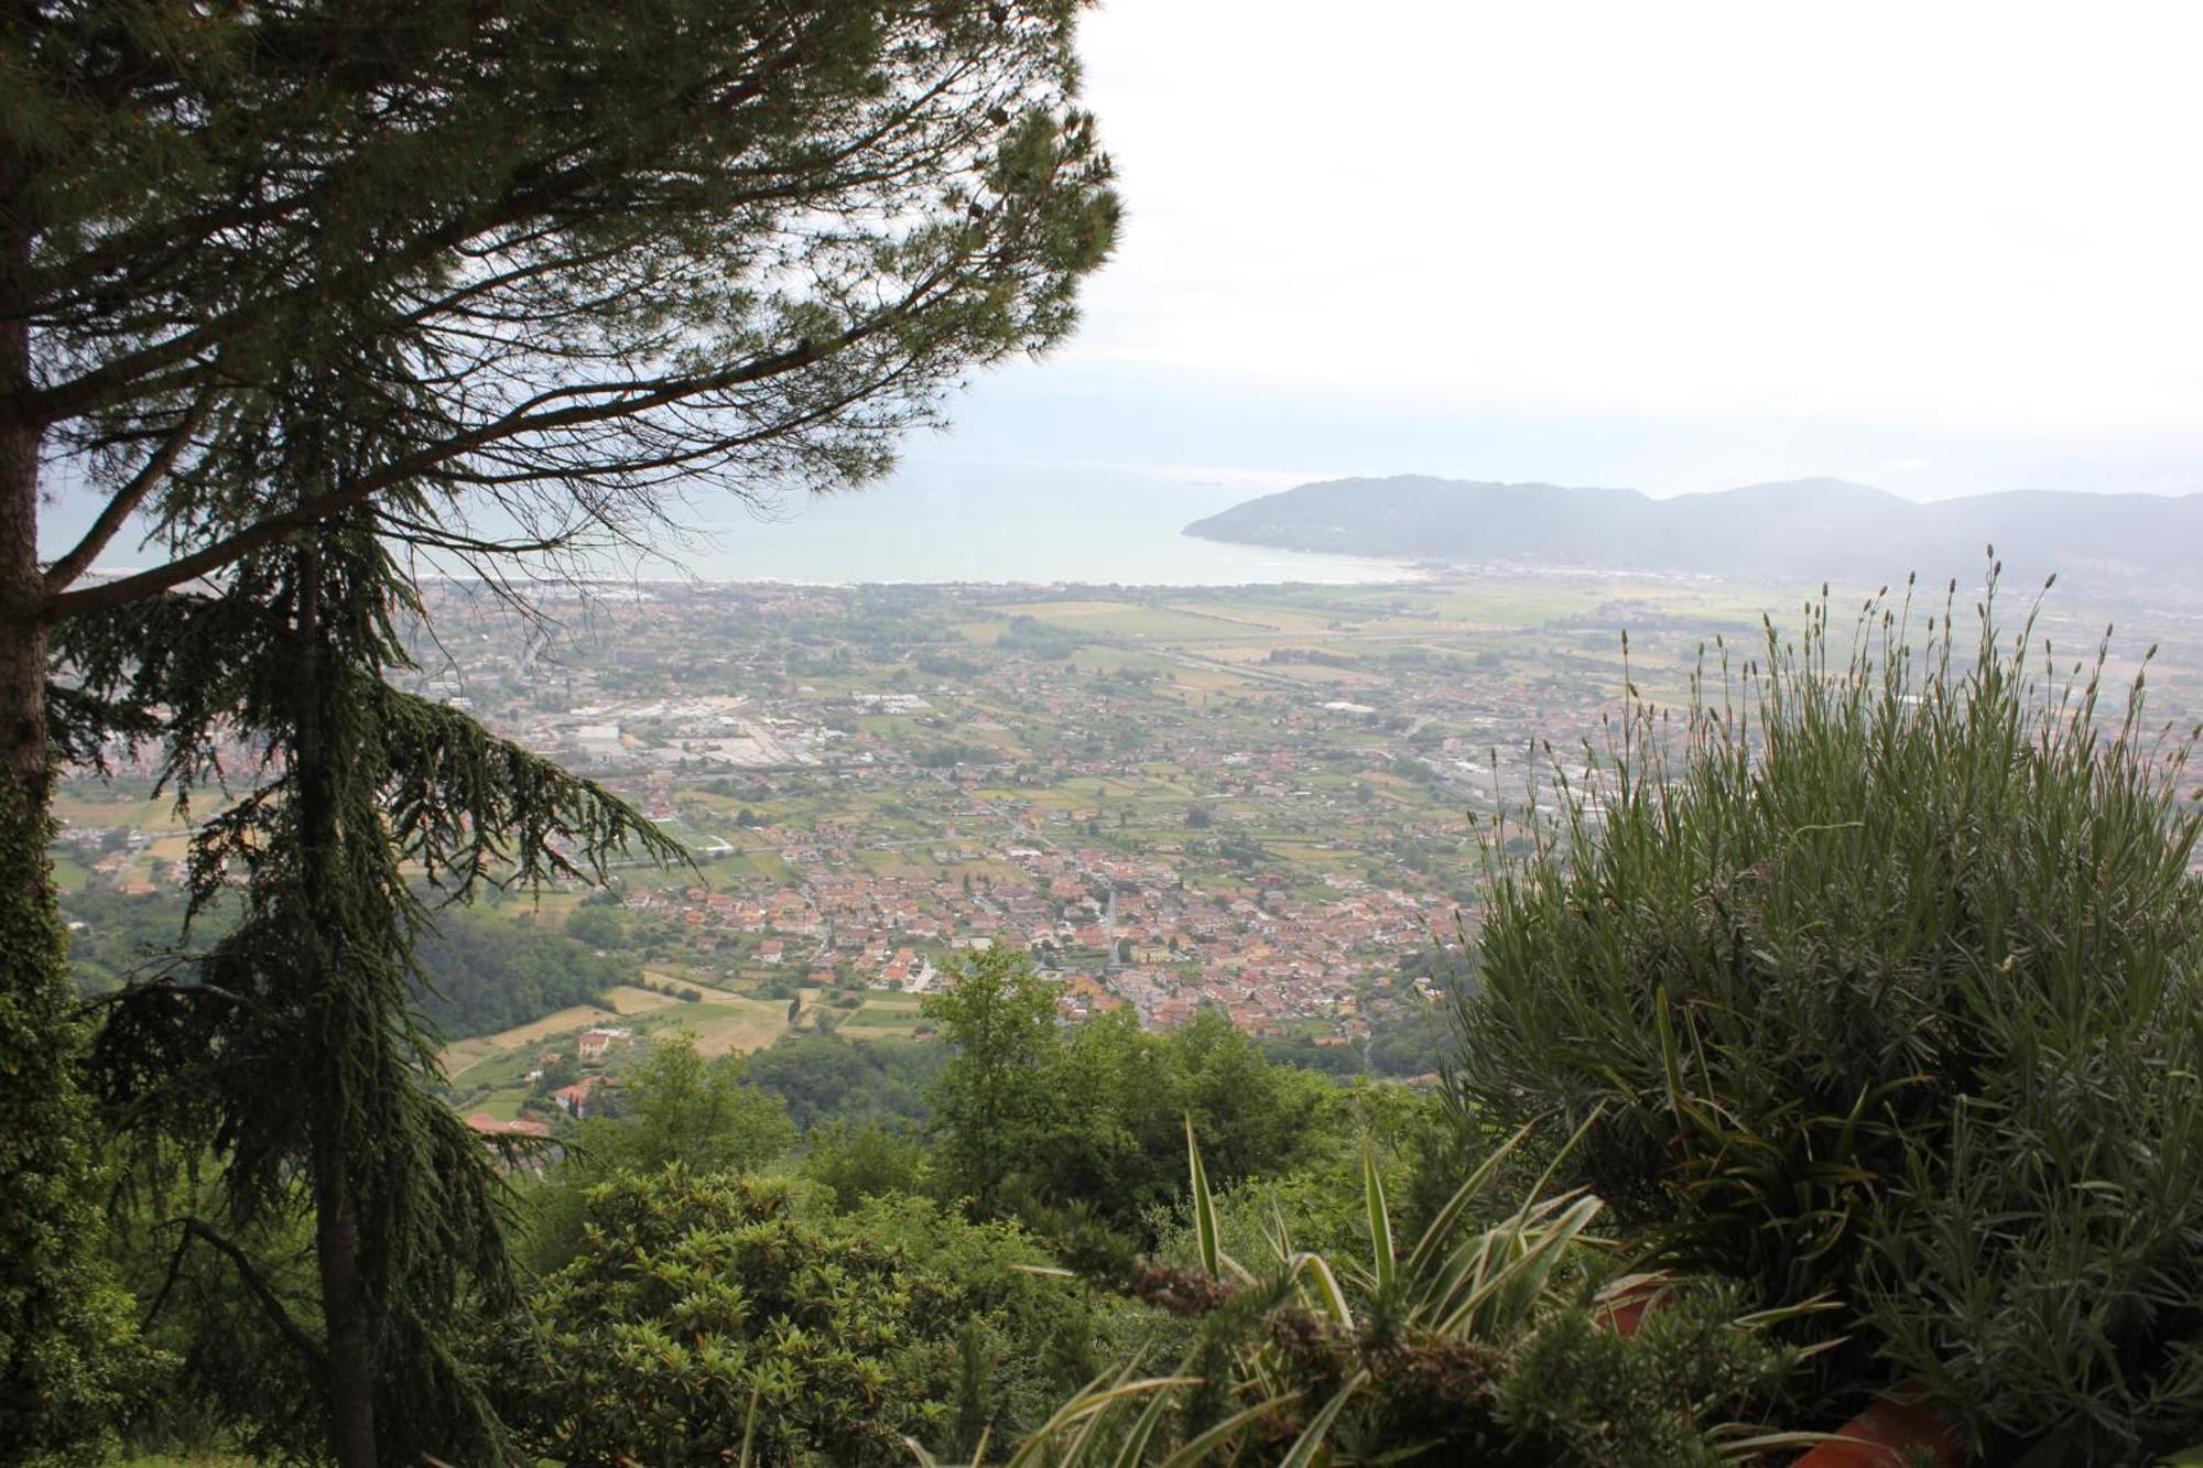
{"type": "MultiPolygon", "coordinates": [[[[1463,1102],[1591,1124],[1672,1259],[1853,1307],[1848,1369],[1978,1437],[2135,1461],[2203,1428],[2203,888],[2190,741],[2031,622],[1826,602],[1632,705],[1591,789],[1494,849],[1463,1102]]],[[[1831,1358],[1835,1360],[1835,1358],[1831,1358]]]]}

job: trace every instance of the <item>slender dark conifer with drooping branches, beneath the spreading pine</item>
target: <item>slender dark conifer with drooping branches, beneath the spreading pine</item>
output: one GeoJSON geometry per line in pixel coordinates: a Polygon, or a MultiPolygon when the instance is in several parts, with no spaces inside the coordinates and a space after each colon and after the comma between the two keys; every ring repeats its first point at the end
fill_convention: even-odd
{"type": "Polygon", "coordinates": [[[117,996],[95,1071],[154,1153],[218,1159],[223,1217],[163,1226],[178,1261],[225,1256],[311,1362],[348,1468],[487,1461],[500,1439],[454,1331],[513,1300],[502,1184],[430,1091],[414,939],[432,910],[416,884],[463,897],[601,873],[626,844],[672,853],[597,787],[392,688],[410,606],[388,547],[339,520],[251,555],[220,597],[165,597],[66,644],[88,694],[176,710],[161,732],[176,780],[203,774],[225,734],[262,741],[267,780],[192,853],[194,913],[236,893],[240,921],[117,996]],[[236,1243],[286,1217],[313,1226],[319,1320],[293,1318],[236,1243]]]}

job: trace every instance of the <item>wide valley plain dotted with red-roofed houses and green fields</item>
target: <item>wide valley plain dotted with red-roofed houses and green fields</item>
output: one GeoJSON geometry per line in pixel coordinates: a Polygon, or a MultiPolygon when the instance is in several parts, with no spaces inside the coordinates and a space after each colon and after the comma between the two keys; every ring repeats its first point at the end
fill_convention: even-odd
{"type": "MultiPolygon", "coordinates": [[[[923,996],[987,946],[1029,952],[1066,1023],[1214,1010],[1339,1069],[1414,1073],[1485,844],[1535,840],[1531,807],[1595,820],[1626,690],[1740,697],[1762,608],[1800,604],[1511,569],[1229,591],[630,582],[553,589],[524,617],[460,584],[427,600],[416,692],[599,780],[692,860],[489,906],[632,976],[452,1045],[454,1100],[485,1126],[518,1124],[577,1040],[597,1069],[676,1027],[707,1051],[925,1038],[923,996]]],[[[2038,633],[2080,646],[2091,626],[2053,606],[2038,633]]],[[[2163,716],[2203,703],[2199,650],[2159,652],[2163,716]]],[[[152,771],[115,760],[70,785],[57,846],[70,913],[110,893],[108,926],[112,895],[174,906],[187,840],[152,771]]],[[[560,1107],[582,1111],[586,1082],[560,1107]]]]}

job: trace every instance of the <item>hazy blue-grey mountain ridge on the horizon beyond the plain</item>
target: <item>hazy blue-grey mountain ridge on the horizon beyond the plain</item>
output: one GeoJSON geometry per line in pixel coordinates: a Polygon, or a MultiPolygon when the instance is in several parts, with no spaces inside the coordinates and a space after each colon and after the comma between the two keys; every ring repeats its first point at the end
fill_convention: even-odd
{"type": "MultiPolygon", "coordinates": [[[[1840,478],[1654,500],[1637,489],[1335,478],[1234,505],[1187,536],[1450,564],[1939,582],[1996,544],[2009,578],[2203,584],[2203,496],[2022,489],[1917,505],[1840,478]]],[[[2018,582],[2011,582],[2018,584],[2018,582]]],[[[2139,589],[2139,586],[2137,586],[2139,589]]]]}

